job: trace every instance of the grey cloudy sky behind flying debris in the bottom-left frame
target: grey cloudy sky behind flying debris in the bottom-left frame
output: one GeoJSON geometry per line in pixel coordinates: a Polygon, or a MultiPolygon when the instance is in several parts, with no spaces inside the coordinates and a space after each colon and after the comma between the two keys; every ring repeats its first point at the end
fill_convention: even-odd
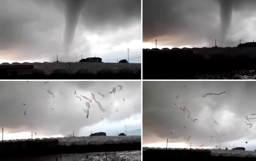
{"type": "Polygon", "coordinates": [[[141,82],[0,82],[0,102],[5,140],[31,138],[31,132],[37,133],[34,138],[43,138],[69,136],[73,130],[75,136],[88,136],[90,131],[117,135],[125,133],[124,125],[128,135],[141,129],[141,82]],[[115,94],[109,94],[114,87],[115,94]],[[88,118],[83,111],[88,109],[86,102],[88,118]]]}

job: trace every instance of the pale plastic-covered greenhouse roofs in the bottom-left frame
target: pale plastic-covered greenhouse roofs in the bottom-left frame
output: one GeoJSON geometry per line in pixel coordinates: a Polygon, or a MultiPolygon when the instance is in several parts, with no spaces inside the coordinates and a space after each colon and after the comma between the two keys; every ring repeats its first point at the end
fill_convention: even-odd
{"type": "MultiPolygon", "coordinates": [[[[106,137],[64,137],[64,138],[43,138],[33,140],[57,139],[59,145],[102,145],[102,144],[121,144],[121,143],[140,143],[141,136],[106,136],[106,137]]],[[[31,141],[31,139],[4,140],[4,142],[31,141]]]]}

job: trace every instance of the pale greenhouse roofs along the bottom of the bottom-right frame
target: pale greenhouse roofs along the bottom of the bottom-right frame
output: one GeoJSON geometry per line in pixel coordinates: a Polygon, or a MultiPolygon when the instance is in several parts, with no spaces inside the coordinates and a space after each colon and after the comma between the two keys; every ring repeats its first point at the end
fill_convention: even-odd
{"type": "MultiPolygon", "coordinates": [[[[143,151],[146,151],[147,149],[158,149],[158,150],[165,150],[165,148],[148,148],[143,147],[143,151]]],[[[168,150],[190,150],[187,148],[168,148],[168,150]]],[[[224,149],[192,149],[192,150],[207,150],[211,151],[211,156],[225,156],[225,157],[251,157],[256,158],[256,152],[255,151],[242,151],[242,150],[224,150],[224,149]]]]}

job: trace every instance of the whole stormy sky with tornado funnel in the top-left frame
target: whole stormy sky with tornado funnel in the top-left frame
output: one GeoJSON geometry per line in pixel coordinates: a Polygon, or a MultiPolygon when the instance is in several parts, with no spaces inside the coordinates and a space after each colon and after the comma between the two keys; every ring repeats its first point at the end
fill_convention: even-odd
{"type": "Polygon", "coordinates": [[[141,0],[1,0],[0,63],[141,62],[141,0]]]}

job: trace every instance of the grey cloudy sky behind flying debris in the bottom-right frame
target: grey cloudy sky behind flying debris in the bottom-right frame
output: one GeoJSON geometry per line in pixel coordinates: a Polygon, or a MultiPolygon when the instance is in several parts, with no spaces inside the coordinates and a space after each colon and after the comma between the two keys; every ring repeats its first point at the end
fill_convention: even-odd
{"type": "Polygon", "coordinates": [[[246,116],[256,118],[255,98],[256,82],[143,82],[143,146],[164,148],[169,138],[171,148],[253,151],[256,119],[246,116]]]}

